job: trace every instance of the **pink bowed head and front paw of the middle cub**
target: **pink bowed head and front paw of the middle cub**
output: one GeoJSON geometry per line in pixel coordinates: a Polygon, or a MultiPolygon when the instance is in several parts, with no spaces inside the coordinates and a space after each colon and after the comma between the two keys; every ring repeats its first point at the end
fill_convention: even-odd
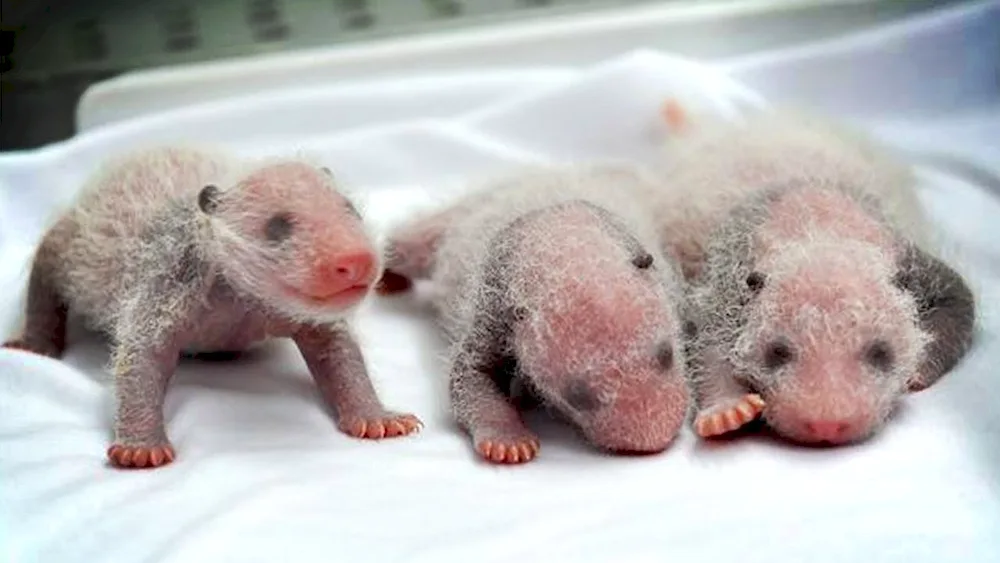
{"type": "MultiPolygon", "coordinates": [[[[688,392],[672,361],[676,319],[655,290],[653,271],[633,266],[623,241],[587,210],[546,215],[524,227],[514,263],[514,279],[523,280],[511,286],[514,300],[530,311],[514,329],[522,370],[593,444],[623,453],[663,451],[684,422],[688,392]],[[552,232],[560,233],[558,242],[552,232]],[[657,355],[664,344],[671,348],[666,366],[657,355]],[[572,404],[571,389],[589,408],[572,404]]],[[[484,441],[506,442],[496,436],[531,442],[509,403],[481,405],[488,406],[495,410],[482,418],[504,422],[473,431],[481,453],[484,441]]]]}

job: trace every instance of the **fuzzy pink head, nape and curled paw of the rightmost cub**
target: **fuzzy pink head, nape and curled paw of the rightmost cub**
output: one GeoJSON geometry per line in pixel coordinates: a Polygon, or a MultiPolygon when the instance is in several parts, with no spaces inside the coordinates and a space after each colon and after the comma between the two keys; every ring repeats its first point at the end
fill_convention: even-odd
{"type": "Polygon", "coordinates": [[[797,442],[870,436],[905,393],[926,338],[912,299],[892,284],[891,235],[845,196],[805,190],[772,205],[754,244],[755,270],[766,281],[750,305],[737,359],[757,393],[720,386],[696,430],[722,434],[762,414],[797,442]],[[790,358],[768,367],[769,346],[779,340],[790,358]],[[876,340],[888,347],[888,365],[867,356],[876,340]]]}

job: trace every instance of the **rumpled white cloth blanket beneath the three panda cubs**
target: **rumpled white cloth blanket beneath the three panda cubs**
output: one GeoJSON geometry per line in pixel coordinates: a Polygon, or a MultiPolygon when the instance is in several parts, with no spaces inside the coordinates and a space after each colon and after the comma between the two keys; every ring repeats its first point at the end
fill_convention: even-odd
{"type": "MultiPolygon", "coordinates": [[[[389,104],[381,94],[371,98],[389,104]]],[[[45,221],[113,151],[167,140],[248,155],[309,150],[384,227],[443,190],[520,163],[648,158],[667,95],[730,116],[758,101],[655,53],[428,117],[422,100],[433,106],[435,94],[409,96],[391,122],[338,128],[335,88],[272,91],[0,157],[3,320],[15,320],[45,221]]],[[[996,106],[972,118],[870,124],[896,144],[945,145],[993,172],[1000,161],[996,106]]],[[[182,364],[166,402],[178,459],[117,471],[104,455],[106,347],[77,332],[63,362],[0,351],[0,554],[12,563],[1000,561],[1000,199],[988,175],[921,170],[922,197],[981,293],[983,328],[959,369],[910,397],[864,445],[748,438],[710,447],[685,428],[661,455],[613,457],[532,417],[540,457],[489,466],[448,414],[433,322],[394,298],[374,300],[357,326],[382,398],[417,413],[420,434],[373,443],[339,433],[304,362],[275,343],[229,364],[182,364]]]]}

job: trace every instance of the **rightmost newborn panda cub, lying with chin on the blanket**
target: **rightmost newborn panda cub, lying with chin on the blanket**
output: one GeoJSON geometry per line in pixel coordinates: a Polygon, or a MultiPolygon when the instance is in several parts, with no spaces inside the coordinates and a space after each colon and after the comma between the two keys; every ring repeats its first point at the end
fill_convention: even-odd
{"type": "Polygon", "coordinates": [[[660,216],[696,279],[699,435],[763,414],[793,441],[858,441],[965,355],[974,297],[929,250],[906,168],[805,115],[688,129],[660,216]]]}

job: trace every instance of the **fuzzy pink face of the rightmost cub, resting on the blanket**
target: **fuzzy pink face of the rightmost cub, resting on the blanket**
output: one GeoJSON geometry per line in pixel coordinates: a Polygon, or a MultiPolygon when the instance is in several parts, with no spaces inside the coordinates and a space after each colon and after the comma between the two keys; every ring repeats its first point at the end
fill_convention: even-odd
{"type": "Polygon", "coordinates": [[[810,263],[761,291],[757,310],[774,316],[751,317],[749,332],[760,336],[747,362],[764,362],[776,338],[787,339],[794,353],[785,367],[754,379],[763,416],[779,434],[806,443],[858,441],[881,426],[905,392],[905,376],[865,360],[866,347],[879,338],[895,362],[915,366],[921,338],[916,327],[892,322],[914,313],[877,273],[848,260],[810,263]]]}

